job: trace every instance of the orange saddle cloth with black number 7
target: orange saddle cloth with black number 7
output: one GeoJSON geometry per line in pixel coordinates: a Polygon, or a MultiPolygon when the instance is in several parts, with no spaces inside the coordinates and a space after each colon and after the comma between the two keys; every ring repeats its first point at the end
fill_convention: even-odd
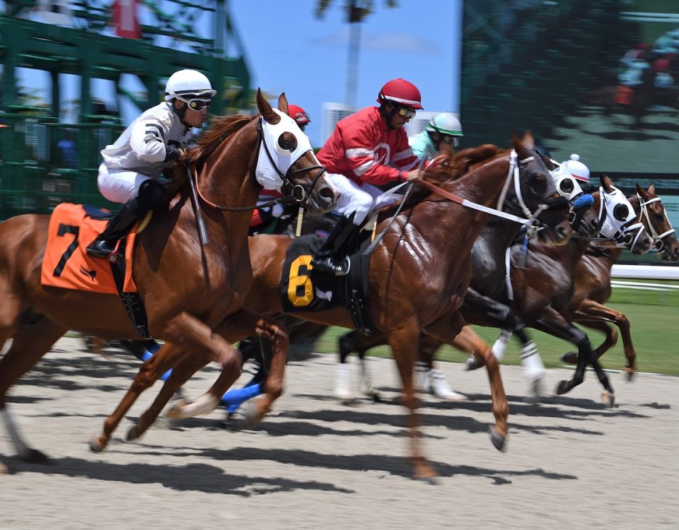
{"type": "MultiPolygon", "coordinates": [[[[45,256],[42,258],[42,285],[118,294],[111,267],[120,264],[112,265],[108,259],[96,258],[86,252],[87,246],[103,232],[107,222],[88,216],[81,204],[64,203],[54,208],[47,229],[45,256]]],[[[123,290],[126,293],[137,292],[132,279],[135,235],[132,230],[125,245],[123,290]]]]}

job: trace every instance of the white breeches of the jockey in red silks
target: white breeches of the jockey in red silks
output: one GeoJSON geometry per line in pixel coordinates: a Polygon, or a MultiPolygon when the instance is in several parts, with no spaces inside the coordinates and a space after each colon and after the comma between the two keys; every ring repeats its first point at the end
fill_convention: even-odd
{"type": "Polygon", "coordinates": [[[354,225],[356,226],[361,225],[376,208],[394,204],[400,199],[400,195],[393,194],[395,189],[384,193],[378,187],[367,182],[359,186],[344,175],[326,173],[327,177],[330,177],[332,183],[340,190],[340,196],[335,203],[335,211],[341,213],[344,217],[349,217],[356,212],[354,216],[354,225]]]}

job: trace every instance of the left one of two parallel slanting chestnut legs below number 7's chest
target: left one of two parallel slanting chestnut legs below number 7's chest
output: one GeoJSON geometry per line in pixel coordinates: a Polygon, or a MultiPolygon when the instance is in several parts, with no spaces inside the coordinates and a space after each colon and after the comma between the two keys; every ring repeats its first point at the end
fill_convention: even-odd
{"type": "Polygon", "coordinates": [[[113,431],[120,424],[122,418],[124,418],[125,413],[129,411],[132,404],[137,401],[139,395],[144,390],[151,387],[151,385],[153,385],[153,383],[155,383],[167,370],[180,363],[187,353],[188,351],[185,351],[180,346],[166,342],[153,357],[142,363],[139,367],[137,377],[134,378],[134,382],[130,385],[127,393],[120,401],[120,404],[118,404],[115,411],[113,411],[113,413],[104,421],[103,431],[100,435],[96,435],[91,440],[90,449],[92,451],[103,451],[110,441],[113,431]]]}

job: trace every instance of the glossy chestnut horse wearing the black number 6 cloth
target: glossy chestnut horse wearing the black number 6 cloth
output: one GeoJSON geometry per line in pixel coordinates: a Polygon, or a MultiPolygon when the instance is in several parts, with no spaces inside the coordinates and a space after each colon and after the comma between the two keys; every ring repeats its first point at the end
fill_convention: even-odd
{"type": "MultiPolygon", "coordinates": [[[[419,192],[417,198],[406,201],[395,218],[378,223],[378,232],[385,230],[385,235],[370,258],[368,309],[372,321],[388,338],[402,379],[405,393],[403,403],[410,411],[407,425],[415,476],[431,477],[436,474],[420,451],[417,399],[412,385],[412,367],[417,358],[419,335],[422,331],[443,342],[474,351],[484,358],[491,384],[492,411],[496,420],[495,425],[490,428],[494,446],[503,449],[507,436],[506,418],[509,409],[497,361],[490,353],[489,346],[468,326],[465,327],[458,312],[470,279],[470,249],[487,223],[489,211],[472,211],[460,206],[460,198],[467,201],[465,206],[471,203],[480,208],[491,208],[504,195],[505,186],[509,186],[511,179],[514,179],[515,189],[520,190],[522,197],[517,200],[526,206],[524,211],[532,209],[542,212],[541,218],[550,223],[550,227],[556,228],[542,230],[542,237],[564,237],[562,225],[566,223],[566,201],[557,201],[558,195],[549,170],[545,160],[535,152],[533,136],[530,134],[524,136],[523,143],[514,139],[514,151],[511,153],[499,151],[495,146],[482,146],[460,152],[452,160],[450,155],[441,155],[423,174],[425,182],[439,183],[439,187],[434,187],[436,191],[419,192]],[[489,153],[492,153],[491,158],[489,153]],[[487,161],[467,172],[469,165],[478,160],[487,161]],[[554,208],[547,207],[550,201],[555,201],[554,208]],[[465,331],[460,333],[463,327],[465,331]]],[[[245,307],[265,314],[279,314],[283,311],[279,284],[286,249],[292,241],[290,237],[282,235],[250,238],[250,256],[255,278],[245,307]]],[[[294,316],[320,324],[354,327],[344,307],[323,312],[300,312],[294,316]]],[[[153,367],[155,377],[173,367],[162,354],[161,348],[156,353],[153,367]]],[[[207,362],[209,359],[205,360],[207,362]]],[[[180,365],[175,368],[175,372],[185,371],[186,368],[180,365]]],[[[272,363],[265,386],[269,384],[269,379],[278,381],[281,371],[282,365],[272,363]]],[[[185,374],[184,378],[190,377],[191,373],[185,374]]],[[[192,404],[175,405],[168,416],[184,418],[214,410],[231,384],[224,384],[225,381],[220,379],[207,394],[192,404]]],[[[153,423],[160,407],[175,391],[172,383],[170,379],[166,381],[161,391],[164,401],[156,399],[149,411],[141,415],[139,423],[128,433],[128,439],[141,435],[153,423]]],[[[110,436],[108,428],[122,419],[124,410],[122,413],[117,410],[106,421],[107,439],[110,436]]],[[[261,414],[257,411],[255,419],[260,417],[261,414]]]]}

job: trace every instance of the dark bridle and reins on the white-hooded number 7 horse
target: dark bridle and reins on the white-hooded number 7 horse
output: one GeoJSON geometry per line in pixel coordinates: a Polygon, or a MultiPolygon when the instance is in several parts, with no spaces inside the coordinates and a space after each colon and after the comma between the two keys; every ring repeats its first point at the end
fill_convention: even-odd
{"type": "Polygon", "coordinates": [[[277,199],[273,199],[272,201],[269,201],[265,204],[253,204],[253,206],[221,206],[220,204],[215,204],[214,202],[210,201],[200,192],[198,186],[198,172],[195,167],[191,168],[190,166],[187,166],[189,178],[195,179],[195,188],[197,190],[198,195],[205,204],[211,206],[212,208],[215,208],[216,210],[224,211],[252,211],[255,208],[269,208],[269,206],[274,206],[276,204],[291,204],[293,202],[298,202],[301,207],[307,206],[309,199],[311,199],[311,192],[313,191],[316,183],[318,182],[318,179],[320,179],[321,175],[323,175],[323,173],[325,172],[325,167],[323,167],[322,165],[312,165],[309,167],[301,167],[299,169],[293,170],[292,167],[295,164],[293,163],[285,173],[282,172],[276,165],[274,158],[271,155],[271,151],[269,151],[269,146],[267,146],[262,121],[263,121],[262,117],[260,117],[257,120],[257,140],[256,140],[257,150],[255,151],[252,162],[250,163],[249,175],[251,178],[256,179],[255,175],[257,172],[257,159],[259,158],[260,148],[264,146],[264,151],[267,155],[267,158],[269,158],[269,163],[271,163],[271,166],[274,168],[274,170],[276,170],[279,178],[283,182],[281,190],[284,189],[286,190],[286,192],[284,192],[284,196],[278,197],[277,199]],[[193,169],[193,175],[191,175],[191,169],[193,169]],[[304,189],[303,186],[301,186],[301,184],[294,184],[293,182],[291,182],[290,177],[312,170],[318,170],[318,174],[314,177],[308,192],[306,191],[306,189],[304,189]]]}

